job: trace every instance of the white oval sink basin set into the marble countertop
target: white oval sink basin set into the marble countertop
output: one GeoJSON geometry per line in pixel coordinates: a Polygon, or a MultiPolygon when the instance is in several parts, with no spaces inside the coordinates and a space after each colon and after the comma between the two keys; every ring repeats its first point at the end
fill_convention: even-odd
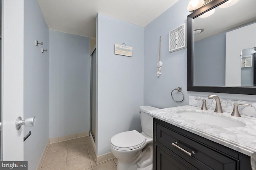
{"type": "MultiPolygon", "coordinates": [[[[220,115],[214,115],[209,112],[196,112],[196,111],[177,111],[177,114],[187,119],[187,121],[197,121],[200,123],[207,123],[210,125],[220,125],[225,127],[244,127],[245,123],[220,115]]],[[[221,114],[221,113],[220,113],[221,114]]]]}

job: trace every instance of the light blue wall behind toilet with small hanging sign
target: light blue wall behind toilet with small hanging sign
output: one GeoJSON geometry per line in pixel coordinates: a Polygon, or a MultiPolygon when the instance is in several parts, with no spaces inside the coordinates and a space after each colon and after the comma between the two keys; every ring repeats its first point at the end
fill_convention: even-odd
{"type": "Polygon", "coordinates": [[[98,14],[98,126],[97,155],[111,152],[113,135],[141,132],[139,106],[143,105],[144,28],[98,14]],[[133,57],[114,54],[114,44],[133,47],[133,57]]]}

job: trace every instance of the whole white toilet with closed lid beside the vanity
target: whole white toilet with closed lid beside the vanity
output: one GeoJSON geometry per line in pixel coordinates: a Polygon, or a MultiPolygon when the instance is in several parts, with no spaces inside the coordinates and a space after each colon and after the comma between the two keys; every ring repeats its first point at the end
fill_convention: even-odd
{"type": "Polygon", "coordinates": [[[146,112],[158,108],[140,106],[142,133],[136,130],[114,135],[110,140],[112,154],[118,159],[117,170],[152,170],[153,118],[146,112]]]}

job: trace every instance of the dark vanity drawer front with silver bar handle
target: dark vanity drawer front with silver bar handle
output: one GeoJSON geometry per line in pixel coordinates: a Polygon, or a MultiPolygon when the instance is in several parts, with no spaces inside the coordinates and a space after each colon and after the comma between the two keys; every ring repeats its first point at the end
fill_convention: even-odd
{"type": "MultiPolygon", "coordinates": [[[[205,145],[204,143],[196,141],[194,138],[192,139],[191,137],[182,134],[180,131],[176,131],[178,127],[174,126],[174,129],[176,129],[174,130],[173,128],[170,128],[173,125],[166,123],[168,126],[165,126],[164,124],[165,122],[160,120],[156,120],[156,123],[154,123],[154,128],[156,128],[156,145],[166,147],[166,149],[171,150],[177,156],[186,160],[186,162],[193,164],[193,166],[198,169],[208,167],[203,169],[239,170],[240,161],[238,160],[239,155],[237,153],[230,151],[234,157],[224,154],[205,145]],[[174,146],[173,143],[176,143],[178,147],[186,150],[187,152],[191,153],[193,151],[194,154],[190,156],[186,152],[174,146]]],[[[182,129],[182,131],[184,131],[184,129],[182,129]]],[[[224,149],[226,150],[225,147],[224,149]]]]}

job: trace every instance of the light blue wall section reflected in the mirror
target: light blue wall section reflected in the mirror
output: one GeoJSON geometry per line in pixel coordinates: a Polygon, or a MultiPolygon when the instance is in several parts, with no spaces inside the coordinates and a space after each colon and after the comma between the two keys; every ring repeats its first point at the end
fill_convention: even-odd
{"type": "Polygon", "coordinates": [[[194,85],[225,86],[226,32],[194,43],[194,85]]]}

